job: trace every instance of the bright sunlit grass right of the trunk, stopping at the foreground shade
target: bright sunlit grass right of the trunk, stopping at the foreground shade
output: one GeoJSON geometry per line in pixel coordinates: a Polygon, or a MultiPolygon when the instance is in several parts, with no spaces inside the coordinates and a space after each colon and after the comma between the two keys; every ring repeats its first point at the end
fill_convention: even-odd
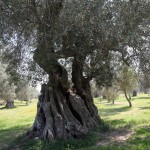
{"type": "Polygon", "coordinates": [[[105,121],[110,122],[114,127],[134,124],[134,128],[150,123],[150,97],[139,95],[132,98],[133,107],[128,107],[128,102],[121,96],[116,100],[116,104],[106,103],[95,100],[99,109],[99,114],[105,121]]]}

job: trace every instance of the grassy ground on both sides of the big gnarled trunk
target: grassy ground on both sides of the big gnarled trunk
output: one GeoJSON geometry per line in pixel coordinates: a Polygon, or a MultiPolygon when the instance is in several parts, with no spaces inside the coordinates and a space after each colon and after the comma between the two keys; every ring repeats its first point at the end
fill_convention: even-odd
{"type": "MultiPolygon", "coordinates": [[[[132,108],[128,107],[122,96],[115,103],[113,105],[95,99],[101,118],[109,124],[111,130],[100,133],[101,140],[96,145],[82,150],[150,149],[150,96],[141,94],[133,98],[132,108]]],[[[15,106],[10,110],[0,109],[0,149],[7,147],[18,135],[27,131],[34,121],[36,101],[29,106],[16,101],[15,106]]],[[[39,147],[38,142],[34,146],[35,144],[39,147]]],[[[32,145],[30,148],[36,150],[32,145]]]]}

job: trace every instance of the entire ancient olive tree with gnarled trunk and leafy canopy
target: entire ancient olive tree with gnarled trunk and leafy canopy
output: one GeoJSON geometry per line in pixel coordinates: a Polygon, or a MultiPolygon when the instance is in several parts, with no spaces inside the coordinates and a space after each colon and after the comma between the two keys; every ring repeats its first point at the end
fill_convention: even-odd
{"type": "Polygon", "coordinates": [[[90,81],[110,84],[112,52],[126,63],[142,52],[136,40],[146,36],[142,26],[149,17],[149,4],[116,0],[0,3],[2,40],[15,46],[10,53],[25,63],[31,49],[34,62],[49,75],[48,83],[41,86],[28,135],[45,140],[83,137],[100,122],[90,81]]]}

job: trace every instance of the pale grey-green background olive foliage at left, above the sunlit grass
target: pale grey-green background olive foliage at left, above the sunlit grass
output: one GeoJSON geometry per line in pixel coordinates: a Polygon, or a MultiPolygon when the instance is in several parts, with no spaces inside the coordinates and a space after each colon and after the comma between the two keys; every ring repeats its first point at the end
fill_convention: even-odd
{"type": "Polygon", "coordinates": [[[16,98],[22,100],[37,98],[38,91],[29,85],[29,81],[25,79],[15,81],[15,85],[7,68],[8,65],[0,61],[0,99],[7,101],[16,98]]]}

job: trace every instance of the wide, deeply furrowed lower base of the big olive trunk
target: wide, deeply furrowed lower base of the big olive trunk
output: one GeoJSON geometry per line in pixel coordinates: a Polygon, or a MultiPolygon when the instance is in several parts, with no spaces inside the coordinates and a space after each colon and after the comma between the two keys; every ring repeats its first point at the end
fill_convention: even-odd
{"type": "MultiPolygon", "coordinates": [[[[77,81],[77,93],[68,90],[67,72],[60,65],[59,68],[59,72],[49,74],[49,83],[42,85],[37,115],[28,132],[31,137],[44,140],[80,138],[89,129],[98,126],[100,118],[88,91],[89,85],[83,80],[82,86],[85,85],[85,89],[84,93],[80,93],[77,81]]],[[[78,71],[75,76],[79,77],[78,71]]]]}

